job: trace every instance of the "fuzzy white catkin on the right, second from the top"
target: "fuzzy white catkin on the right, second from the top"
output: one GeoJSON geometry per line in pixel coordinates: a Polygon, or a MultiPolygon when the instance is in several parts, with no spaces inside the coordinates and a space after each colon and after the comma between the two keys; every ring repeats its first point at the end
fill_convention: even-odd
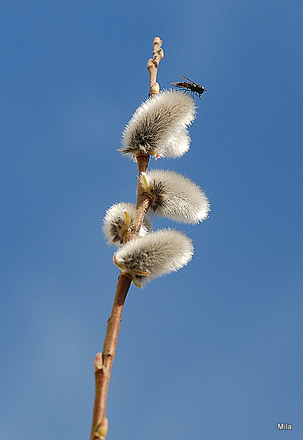
{"type": "Polygon", "coordinates": [[[210,203],[205,192],[193,181],[174,171],[150,170],[144,173],[153,199],[150,214],[182,223],[199,223],[207,218],[210,203]]]}

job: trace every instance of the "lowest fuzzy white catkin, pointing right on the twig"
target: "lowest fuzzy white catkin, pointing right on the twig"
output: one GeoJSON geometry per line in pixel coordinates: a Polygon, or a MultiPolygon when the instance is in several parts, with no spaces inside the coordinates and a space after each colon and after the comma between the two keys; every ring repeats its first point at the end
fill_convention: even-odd
{"type": "Polygon", "coordinates": [[[194,253],[192,241],[179,231],[164,229],[128,241],[113,256],[122,272],[143,287],[151,279],[179,270],[194,253]]]}

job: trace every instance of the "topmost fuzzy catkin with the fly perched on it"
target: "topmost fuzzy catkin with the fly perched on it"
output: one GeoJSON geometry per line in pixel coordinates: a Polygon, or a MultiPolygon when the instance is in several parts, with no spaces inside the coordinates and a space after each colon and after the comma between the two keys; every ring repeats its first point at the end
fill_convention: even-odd
{"type": "Polygon", "coordinates": [[[194,100],[188,94],[161,91],[135,111],[124,129],[120,151],[131,157],[180,157],[190,146],[186,128],[194,115],[194,100]]]}

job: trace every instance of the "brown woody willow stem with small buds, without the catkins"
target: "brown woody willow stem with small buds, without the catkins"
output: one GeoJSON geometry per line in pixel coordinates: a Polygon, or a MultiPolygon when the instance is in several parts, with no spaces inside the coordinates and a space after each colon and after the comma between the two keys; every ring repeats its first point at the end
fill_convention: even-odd
{"type": "MultiPolygon", "coordinates": [[[[153,58],[148,60],[148,72],[150,73],[150,91],[149,95],[159,93],[159,84],[157,83],[158,65],[164,57],[161,49],[162,41],[159,36],[154,39],[153,58]]],[[[150,206],[150,199],[144,192],[142,173],[148,169],[149,155],[137,156],[138,166],[138,184],[137,184],[137,215],[135,222],[128,228],[126,241],[135,239],[144,220],[145,214],[150,206]]],[[[109,429],[109,421],[106,417],[106,400],[109,390],[109,380],[111,378],[111,367],[113,358],[115,357],[115,349],[117,347],[117,336],[121,324],[121,316],[126,300],[128,289],[131,285],[131,277],[120,272],[117,288],[115,292],[115,300],[111,316],[107,323],[106,336],[103,346],[103,354],[97,353],[95,359],[95,378],[96,378],[96,394],[93,407],[93,423],[91,427],[90,440],[105,440],[109,429]]]]}

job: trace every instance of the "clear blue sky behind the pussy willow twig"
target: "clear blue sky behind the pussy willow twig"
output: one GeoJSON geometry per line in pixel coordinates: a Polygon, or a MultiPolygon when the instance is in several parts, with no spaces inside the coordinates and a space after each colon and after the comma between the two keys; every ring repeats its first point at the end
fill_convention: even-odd
{"type": "Polygon", "coordinates": [[[116,151],[148,94],[207,89],[190,151],[194,259],[126,298],[108,440],[303,438],[302,1],[3,1],[0,440],[89,439],[119,271],[102,218],[135,201],[116,151]],[[278,431],[277,423],[293,429],[278,431]]]}

